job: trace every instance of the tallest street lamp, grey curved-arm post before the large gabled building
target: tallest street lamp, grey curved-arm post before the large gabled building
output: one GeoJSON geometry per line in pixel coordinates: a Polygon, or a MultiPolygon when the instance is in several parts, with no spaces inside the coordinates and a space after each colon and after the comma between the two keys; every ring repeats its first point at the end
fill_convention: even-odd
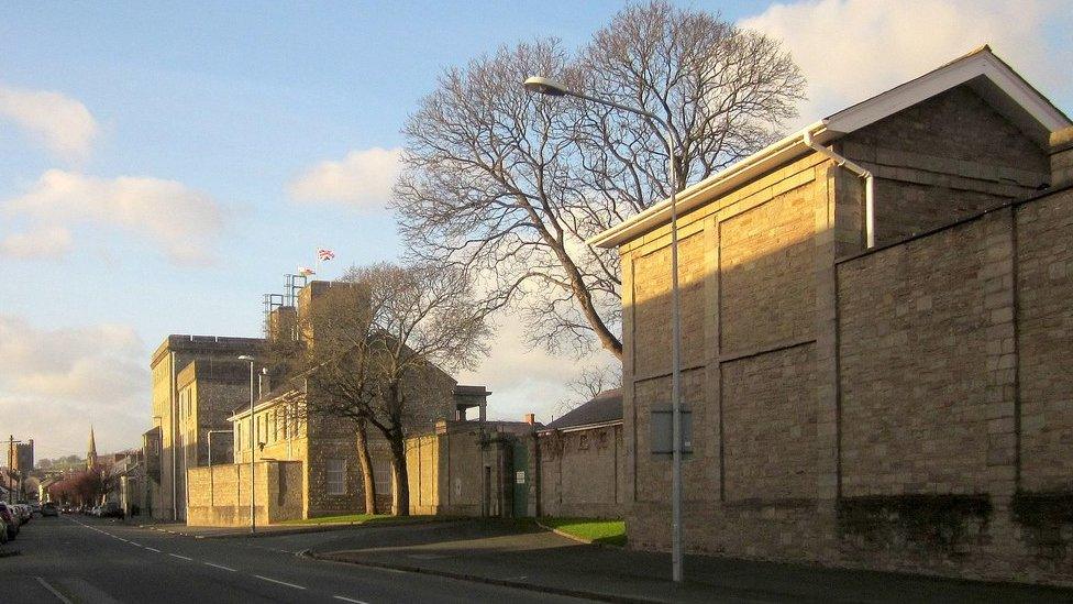
{"type": "Polygon", "coordinates": [[[678,171],[675,162],[682,150],[674,129],[655,113],[643,109],[620,105],[607,99],[590,97],[543,77],[526,80],[526,90],[550,97],[575,97],[585,101],[613,107],[628,113],[641,116],[651,125],[655,122],[663,129],[663,142],[667,145],[671,158],[671,567],[672,578],[682,582],[682,317],[678,298],[678,171]]]}

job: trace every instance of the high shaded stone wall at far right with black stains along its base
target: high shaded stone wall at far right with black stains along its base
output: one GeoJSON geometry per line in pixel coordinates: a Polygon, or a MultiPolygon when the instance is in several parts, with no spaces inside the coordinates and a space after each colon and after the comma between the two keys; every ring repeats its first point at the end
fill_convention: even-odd
{"type": "Polygon", "coordinates": [[[841,560],[1073,583],[1073,190],[838,266],[841,560]]]}

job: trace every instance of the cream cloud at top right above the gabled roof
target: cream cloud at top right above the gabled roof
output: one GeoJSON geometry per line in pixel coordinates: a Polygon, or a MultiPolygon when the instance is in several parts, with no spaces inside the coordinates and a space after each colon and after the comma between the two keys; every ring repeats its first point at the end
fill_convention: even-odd
{"type": "Polygon", "coordinates": [[[983,44],[1044,95],[1062,94],[1073,47],[1049,41],[1047,26],[1068,32],[1068,9],[1061,0],[803,0],[740,24],[783,40],[808,77],[794,124],[804,125],[983,44]]]}

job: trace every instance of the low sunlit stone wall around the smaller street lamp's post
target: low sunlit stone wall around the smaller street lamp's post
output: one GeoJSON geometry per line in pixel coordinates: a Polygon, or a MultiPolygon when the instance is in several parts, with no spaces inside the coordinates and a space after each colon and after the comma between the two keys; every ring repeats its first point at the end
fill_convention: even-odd
{"type": "MultiPolygon", "coordinates": [[[[259,461],[253,465],[255,521],[268,525],[302,517],[302,463],[259,461]]],[[[191,468],[190,526],[250,526],[248,464],[191,468]]]]}

